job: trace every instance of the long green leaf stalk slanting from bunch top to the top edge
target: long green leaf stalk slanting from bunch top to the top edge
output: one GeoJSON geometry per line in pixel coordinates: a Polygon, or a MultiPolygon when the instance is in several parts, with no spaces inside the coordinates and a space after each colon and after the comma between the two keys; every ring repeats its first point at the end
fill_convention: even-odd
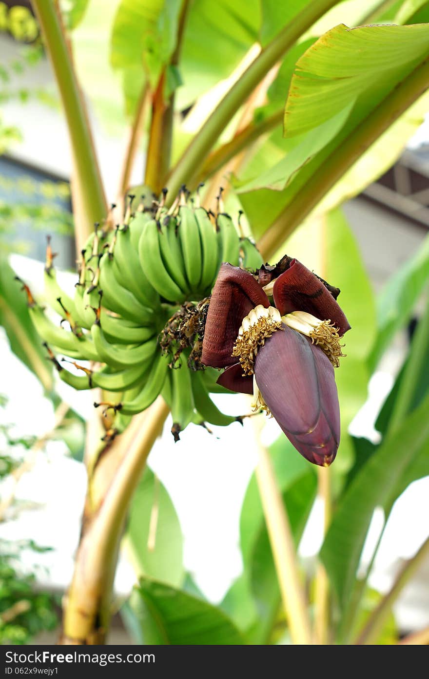
{"type": "Polygon", "coordinates": [[[298,38],[305,33],[339,0],[313,0],[285,26],[251,63],[239,80],[220,101],[205,124],[184,151],[182,157],[171,172],[167,182],[170,203],[176,198],[182,184],[187,183],[203,164],[210,149],[216,143],[222,130],[247,99],[258,82],[272,69],[276,62],[289,50],[298,38]]]}

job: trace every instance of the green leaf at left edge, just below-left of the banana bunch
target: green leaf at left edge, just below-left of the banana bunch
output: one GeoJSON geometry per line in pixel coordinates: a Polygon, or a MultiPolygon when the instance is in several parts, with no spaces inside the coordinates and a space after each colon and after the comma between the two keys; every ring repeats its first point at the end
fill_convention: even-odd
{"type": "Polygon", "coordinates": [[[28,314],[26,295],[6,259],[0,258],[0,325],[6,331],[10,348],[50,392],[54,386],[52,365],[46,360],[42,339],[28,314]]]}

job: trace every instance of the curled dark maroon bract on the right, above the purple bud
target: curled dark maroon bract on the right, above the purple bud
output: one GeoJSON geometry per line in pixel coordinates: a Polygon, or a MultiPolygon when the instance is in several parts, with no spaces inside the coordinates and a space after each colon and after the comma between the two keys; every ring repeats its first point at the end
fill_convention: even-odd
{"type": "Polygon", "coordinates": [[[272,289],[274,304],[282,316],[293,311],[331,320],[338,327],[340,337],[350,330],[350,325],[340,306],[317,278],[298,259],[292,259],[289,268],[277,278],[272,289]]]}

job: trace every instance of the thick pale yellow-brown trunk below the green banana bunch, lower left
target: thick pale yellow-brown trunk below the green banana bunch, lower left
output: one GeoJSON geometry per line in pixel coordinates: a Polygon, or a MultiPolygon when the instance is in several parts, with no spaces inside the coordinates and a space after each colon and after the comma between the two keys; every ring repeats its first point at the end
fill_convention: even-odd
{"type": "Polygon", "coordinates": [[[102,644],[110,621],[119,541],[146,459],[169,408],[158,397],[107,449],[89,479],[87,511],[75,573],[64,601],[61,644],[102,644]],[[98,483],[98,469],[102,475],[98,483]],[[100,492],[105,486],[104,493],[100,492]]]}

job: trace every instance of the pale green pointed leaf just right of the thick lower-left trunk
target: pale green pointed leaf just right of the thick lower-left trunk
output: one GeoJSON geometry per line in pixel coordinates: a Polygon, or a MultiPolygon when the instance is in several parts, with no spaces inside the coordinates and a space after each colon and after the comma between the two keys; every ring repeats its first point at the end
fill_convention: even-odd
{"type": "Polygon", "coordinates": [[[125,536],[125,547],[138,576],[179,586],[184,575],[182,543],[182,530],[171,498],[146,467],[131,503],[125,536]],[[153,549],[148,547],[152,511],[158,511],[153,549]]]}

